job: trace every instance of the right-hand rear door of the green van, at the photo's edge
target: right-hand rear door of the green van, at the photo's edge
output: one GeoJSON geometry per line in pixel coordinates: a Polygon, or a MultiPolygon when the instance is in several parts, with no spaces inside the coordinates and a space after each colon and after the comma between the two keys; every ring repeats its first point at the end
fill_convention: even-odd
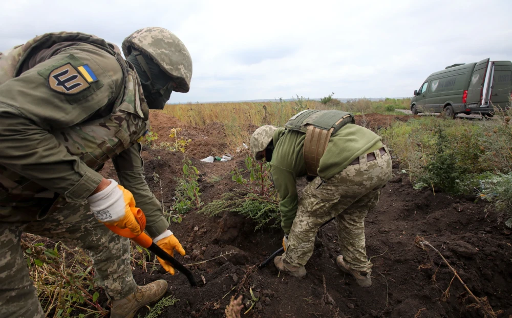
{"type": "MultiPolygon", "coordinates": [[[[504,108],[512,93],[512,63],[510,61],[495,61],[493,86],[490,93],[492,105],[504,108]]],[[[490,106],[492,107],[492,106],[490,106]]]]}

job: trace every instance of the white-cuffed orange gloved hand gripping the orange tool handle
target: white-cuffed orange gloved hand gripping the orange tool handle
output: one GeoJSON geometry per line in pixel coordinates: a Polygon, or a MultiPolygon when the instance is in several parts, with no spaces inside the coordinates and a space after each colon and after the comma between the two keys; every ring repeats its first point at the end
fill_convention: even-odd
{"type": "Polygon", "coordinates": [[[136,235],[142,233],[131,208],[135,208],[132,192],[109,179],[110,185],[87,198],[94,216],[102,223],[129,228],[136,235]]]}

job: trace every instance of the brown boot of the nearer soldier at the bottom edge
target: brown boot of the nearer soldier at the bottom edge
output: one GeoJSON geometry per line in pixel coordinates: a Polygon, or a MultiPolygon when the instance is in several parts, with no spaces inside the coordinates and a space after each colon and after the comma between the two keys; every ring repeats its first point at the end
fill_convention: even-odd
{"type": "Polygon", "coordinates": [[[133,318],[141,307],[159,301],[167,291],[167,282],[159,280],[145,286],[137,286],[133,294],[112,301],[111,318],[133,318]]]}

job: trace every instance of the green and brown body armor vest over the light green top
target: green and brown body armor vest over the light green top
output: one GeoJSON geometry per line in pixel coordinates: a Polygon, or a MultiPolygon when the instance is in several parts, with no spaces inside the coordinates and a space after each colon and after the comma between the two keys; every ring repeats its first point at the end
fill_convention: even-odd
{"type": "Polygon", "coordinates": [[[304,110],[285,124],[286,129],[306,133],[304,160],[308,175],[318,175],[320,159],[333,133],[347,124],[355,124],[354,115],[339,110],[304,110]]]}

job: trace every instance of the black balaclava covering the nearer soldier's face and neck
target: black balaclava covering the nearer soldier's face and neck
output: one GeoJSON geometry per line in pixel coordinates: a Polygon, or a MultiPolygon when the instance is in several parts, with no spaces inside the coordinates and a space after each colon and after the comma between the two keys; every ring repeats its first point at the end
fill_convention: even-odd
{"type": "Polygon", "coordinates": [[[133,64],[139,75],[147,107],[163,109],[169,100],[170,93],[173,92],[172,77],[167,75],[150,56],[139,51],[133,50],[126,59],[133,64]]]}

